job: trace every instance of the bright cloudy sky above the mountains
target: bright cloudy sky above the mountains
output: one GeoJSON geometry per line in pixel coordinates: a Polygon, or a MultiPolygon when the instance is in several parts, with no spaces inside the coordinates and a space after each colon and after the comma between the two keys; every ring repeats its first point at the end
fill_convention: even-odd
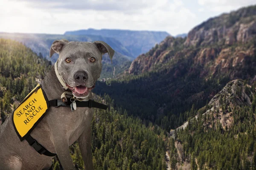
{"type": "Polygon", "coordinates": [[[0,0],[0,32],[64,34],[79,29],[188,33],[256,0],[0,0]]]}

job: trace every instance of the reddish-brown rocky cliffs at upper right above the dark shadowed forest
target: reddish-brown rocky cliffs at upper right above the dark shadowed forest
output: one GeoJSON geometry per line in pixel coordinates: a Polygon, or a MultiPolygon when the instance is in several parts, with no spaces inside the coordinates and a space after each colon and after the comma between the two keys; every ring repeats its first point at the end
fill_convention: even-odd
{"type": "Polygon", "coordinates": [[[255,9],[256,6],[250,6],[209,19],[189,31],[186,40],[166,37],[148,53],[137,57],[125,74],[175,66],[174,76],[177,77],[187,69],[180,61],[187,60],[189,74],[199,70],[200,77],[206,79],[220,74],[231,79],[252,78],[255,76],[253,65],[256,65],[255,9]]]}

